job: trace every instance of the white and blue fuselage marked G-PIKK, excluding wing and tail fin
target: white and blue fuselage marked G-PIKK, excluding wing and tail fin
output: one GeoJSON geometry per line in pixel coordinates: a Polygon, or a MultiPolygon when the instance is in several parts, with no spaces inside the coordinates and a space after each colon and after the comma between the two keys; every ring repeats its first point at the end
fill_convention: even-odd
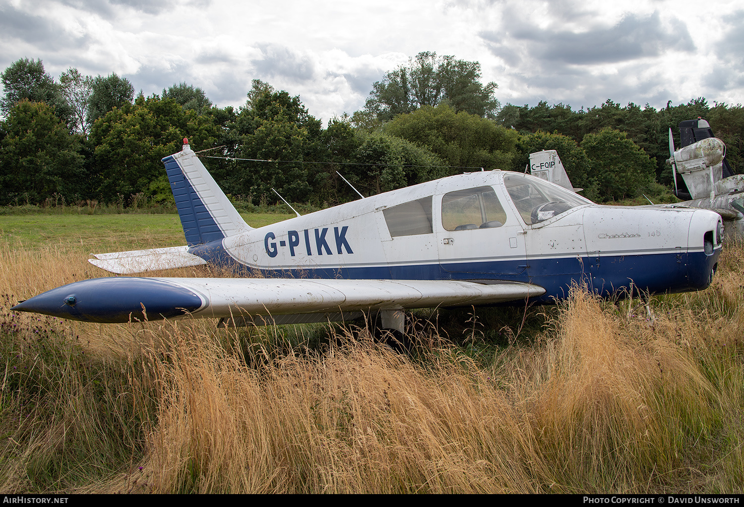
{"type": "Polygon", "coordinates": [[[545,287],[542,302],[565,298],[571,284],[608,296],[631,285],[661,293],[710,283],[718,214],[602,206],[571,194],[567,210],[532,216],[530,205],[570,197],[541,198],[544,185],[498,170],[450,176],[189,252],[266,278],[521,281],[545,287]]]}

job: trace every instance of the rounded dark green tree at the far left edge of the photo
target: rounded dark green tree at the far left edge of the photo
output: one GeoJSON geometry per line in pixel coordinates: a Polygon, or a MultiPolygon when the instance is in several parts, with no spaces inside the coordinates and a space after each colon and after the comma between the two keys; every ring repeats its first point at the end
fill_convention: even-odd
{"type": "Polygon", "coordinates": [[[52,106],[22,99],[10,107],[1,130],[0,205],[48,198],[70,203],[89,191],[80,136],[68,132],[52,106]]]}

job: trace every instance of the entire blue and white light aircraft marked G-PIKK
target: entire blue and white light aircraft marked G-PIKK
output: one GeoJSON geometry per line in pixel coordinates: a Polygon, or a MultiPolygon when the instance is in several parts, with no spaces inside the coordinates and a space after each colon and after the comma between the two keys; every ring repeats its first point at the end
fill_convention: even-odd
{"type": "Polygon", "coordinates": [[[252,278],[94,278],[13,310],[88,322],[190,315],[232,325],[379,311],[382,328],[403,332],[404,309],[550,303],[577,283],[603,296],[701,290],[721,252],[722,222],[713,211],[601,206],[502,170],[449,176],[253,229],[184,142],[163,162],[187,246],[99,254],[90,262],[118,274],[213,263],[252,278]]]}

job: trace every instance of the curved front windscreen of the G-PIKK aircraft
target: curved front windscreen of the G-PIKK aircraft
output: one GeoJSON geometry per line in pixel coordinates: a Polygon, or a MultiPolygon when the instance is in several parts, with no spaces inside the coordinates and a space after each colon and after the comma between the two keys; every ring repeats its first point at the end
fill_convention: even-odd
{"type": "Polygon", "coordinates": [[[521,173],[504,173],[504,186],[528,225],[548,220],[591,201],[558,185],[521,173]]]}

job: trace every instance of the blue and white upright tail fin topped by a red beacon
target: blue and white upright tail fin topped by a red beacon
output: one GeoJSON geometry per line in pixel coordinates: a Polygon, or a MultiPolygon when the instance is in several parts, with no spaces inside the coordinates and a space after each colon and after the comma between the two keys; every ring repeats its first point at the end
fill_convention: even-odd
{"type": "Polygon", "coordinates": [[[252,229],[193,153],[186,139],[179,153],[165,157],[162,162],[188,246],[252,229]]]}

